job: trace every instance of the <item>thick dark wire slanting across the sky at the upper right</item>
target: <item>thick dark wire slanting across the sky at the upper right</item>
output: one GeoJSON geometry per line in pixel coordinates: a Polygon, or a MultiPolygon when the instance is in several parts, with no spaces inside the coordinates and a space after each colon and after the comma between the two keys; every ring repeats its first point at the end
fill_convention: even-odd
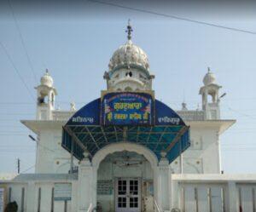
{"type": "Polygon", "coordinates": [[[141,12],[141,13],[146,13],[146,14],[154,14],[154,15],[163,16],[163,17],[166,17],[166,18],[172,18],[172,19],[176,19],[176,20],[189,21],[189,22],[192,22],[192,23],[195,23],[195,24],[200,24],[200,25],[205,25],[205,26],[213,26],[213,27],[218,27],[218,28],[223,28],[223,29],[226,29],[226,30],[230,30],[230,31],[243,32],[243,33],[256,35],[256,32],[242,30],[242,29],[235,28],[235,27],[230,27],[230,26],[217,25],[217,24],[213,24],[213,23],[209,23],[209,22],[201,21],[201,20],[192,20],[192,19],[189,19],[189,18],[183,18],[183,17],[173,15],[173,14],[163,14],[163,13],[159,13],[159,12],[154,12],[152,10],[137,9],[137,8],[133,8],[133,7],[125,6],[125,5],[120,5],[120,4],[117,4],[117,3],[107,3],[107,2],[102,2],[102,1],[98,1],[98,0],[86,0],[86,1],[91,2],[91,3],[101,3],[101,4],[108,5],[108,6],[121,8],[121,9],[129,9],[129,10],[133,10],[133,11],[137,11],[137,12],[141,12]]]}

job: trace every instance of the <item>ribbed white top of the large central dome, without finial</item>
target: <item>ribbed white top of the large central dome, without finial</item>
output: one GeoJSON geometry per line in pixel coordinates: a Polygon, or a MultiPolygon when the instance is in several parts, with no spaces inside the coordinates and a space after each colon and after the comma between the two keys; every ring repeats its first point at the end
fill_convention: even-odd
{"type": "Polygon", "coordinates": [[[133,44],[131,40],[128,40],[125,45],[121,45],[119,49],[113,53],[108,68],[109,71],[113,71],[118,66],[131,65],[141,66],[147,71],[149,69],[147,54],[143,49],[133,44]]]}

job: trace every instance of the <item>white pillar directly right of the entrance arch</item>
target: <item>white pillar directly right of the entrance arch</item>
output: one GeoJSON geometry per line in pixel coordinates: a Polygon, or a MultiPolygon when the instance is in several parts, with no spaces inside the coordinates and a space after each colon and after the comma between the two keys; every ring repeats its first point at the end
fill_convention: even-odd
{"type": "Polygon", "coordinates": [[[166,152],[161,152],[161,159],[158,166],[157,176],[157,200],[161,211],[170,210],[169,196],[170,196],[170,169],[169,161],[166,158],[166,152]]]}

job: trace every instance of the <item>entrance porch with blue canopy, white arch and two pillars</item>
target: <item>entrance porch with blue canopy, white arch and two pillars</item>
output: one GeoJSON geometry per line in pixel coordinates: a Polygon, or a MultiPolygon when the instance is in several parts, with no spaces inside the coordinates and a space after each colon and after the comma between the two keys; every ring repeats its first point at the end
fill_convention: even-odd
{"type": "MultiPolygon", "coordinates": [[[[87,211],[90,205],[96,207],[97,175],[99,179],[104,175],[101,171],[98,173],[98,169],[104,169],[101,167],[104,159],[109,163],[111,158],[120,156],[116,152],[125,151],[136,154],[129,156],[131,158],[141,157],[150,163],[154,199],[161,209],[170,209],[169,163],[189,145],[189,126],[170,107],[155,100],[150,92],[103,92],[102,98],[81,108],[62,130],[61,146],[71,153],[71,158],[81,161],[79,212],[87,211]]],[[[128,172],[127,176],[132,177],[131,173],[128,172]]],[[[113,187],[119,186],[119,183],[120,187],[124,186],[123,183],[126,183],[125,186],[143,183],[142,179],[135,182],[134,179],[129,181],[123,177],[117,173],[112,175],[113,187]],[[120,176],[120,182],[116,182],[115,176],[120,176]]],[[[125,201],[128,203],[127,199],[125,201]]]]}

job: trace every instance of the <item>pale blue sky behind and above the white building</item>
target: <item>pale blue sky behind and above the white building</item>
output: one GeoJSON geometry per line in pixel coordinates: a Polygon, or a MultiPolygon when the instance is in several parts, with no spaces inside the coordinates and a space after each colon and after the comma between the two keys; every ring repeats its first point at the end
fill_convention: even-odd
{"type": "MultiPolygon", "coordinates": [[[[256,173],[256,34],[203,25],[178,17],[256,32],[255,7],[103,1],[1,5],[0,13],[0,173],[32,172],[36,143],[20,119],[33,119],[36,90],[48,68],[58,91],[56,106],[77,109],[106,89],[103,73],[115,49],[132,41],[148,54],[156,98],[177,110],[185,101],[201,107],[207,67],[223,86],[221,117],[236,124],[220,137],[224,173],[256,173]],[[59,7],[61,5],[61,7],[59,7]],[[132,9],[135,10],[132,10],[132,9]],[[158,14],[139,11],[145,9],[158,14]]],[[[244,6],[244,5],[243,5],[244,6]]],[[[35,135],[33,135],[35,136],[35,135]]]]}

